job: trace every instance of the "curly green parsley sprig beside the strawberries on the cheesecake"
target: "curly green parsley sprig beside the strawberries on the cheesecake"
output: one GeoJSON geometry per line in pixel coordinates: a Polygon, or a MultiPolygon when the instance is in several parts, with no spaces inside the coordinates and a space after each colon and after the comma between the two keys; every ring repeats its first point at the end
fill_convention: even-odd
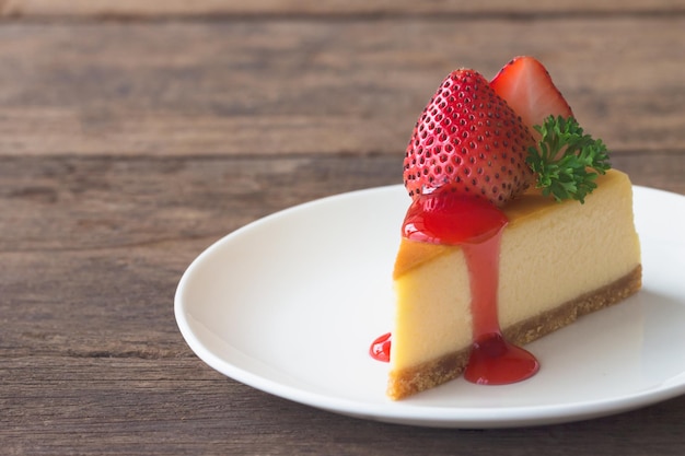
{"type": "Polygon", "coordinates": [[[526,163],[537,176],[536,186],[557,201],[585,202],[597,186],[597,175],[612,167],[606,145],[584,135],[573,117],[549,116],[535,129],[542,138],[537,147],[529,148],[526,163]]]}

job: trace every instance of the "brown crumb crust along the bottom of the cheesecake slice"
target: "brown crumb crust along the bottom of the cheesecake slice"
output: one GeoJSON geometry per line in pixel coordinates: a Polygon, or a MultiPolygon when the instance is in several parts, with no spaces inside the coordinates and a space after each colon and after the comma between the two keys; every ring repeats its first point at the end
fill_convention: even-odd
{"type": "MultiPolygon", "coordinates": [[[[617,304],[642,287],[642,267],[638,265],[630,273],[559,307],[521,321],[502,330],[507,340],[523,346],[561,329],[579,317],[617,304]]],[[[449,353],[415,367],[393,371],[390,374],[387,396],[398,400],[433,388],[462,375],[468,363],[471,347],[449,353]]]]}

